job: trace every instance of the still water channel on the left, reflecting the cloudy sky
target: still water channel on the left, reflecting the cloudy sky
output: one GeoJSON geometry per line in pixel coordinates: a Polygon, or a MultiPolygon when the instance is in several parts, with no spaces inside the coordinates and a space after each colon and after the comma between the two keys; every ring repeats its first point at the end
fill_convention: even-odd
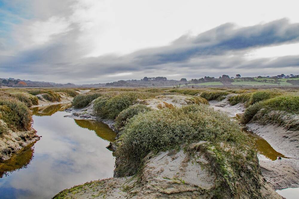
{"type": "Polygon", "coordinates": [[[69,104],[33,109],[39,141],[0,163],[0,198],[52,198],[74,185],[113,176],[106,149],[115,133],[91,120],[63,117],[69,104]]]}

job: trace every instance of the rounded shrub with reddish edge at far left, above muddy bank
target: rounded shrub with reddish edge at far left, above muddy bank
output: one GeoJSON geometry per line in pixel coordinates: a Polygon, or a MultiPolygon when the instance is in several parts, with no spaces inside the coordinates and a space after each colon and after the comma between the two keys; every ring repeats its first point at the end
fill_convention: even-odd
{"type": "Polygon", "coordinates": [[[31,111],[24,102],[13,97],[0,97],[0,119],[13,131],[31,129],[31,111]]]}

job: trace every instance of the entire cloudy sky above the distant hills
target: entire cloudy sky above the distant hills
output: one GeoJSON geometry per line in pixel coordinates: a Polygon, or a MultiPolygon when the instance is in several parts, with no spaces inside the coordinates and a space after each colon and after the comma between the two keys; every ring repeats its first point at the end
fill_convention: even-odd
{"type": "Polygon", "coordinates": [[[0,0],[0,78],[299,74],[298,1],[0,0]]]}

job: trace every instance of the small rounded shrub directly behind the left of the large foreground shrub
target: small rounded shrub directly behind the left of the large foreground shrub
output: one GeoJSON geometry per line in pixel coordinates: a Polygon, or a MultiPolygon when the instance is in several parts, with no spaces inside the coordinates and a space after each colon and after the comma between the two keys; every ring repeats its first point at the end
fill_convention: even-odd
{"type": "Polygon", "coordinates": [[[126,121],[130,118],[132,118],[134,115],[137,115],[139,113],[144,113],[146,111],[152,110],[151,108],[147,107],[146,105],[136,105],[136,106],[130,106],[129,108],[126,108],[125,110],[121,111],[120,114],[115,119],[115,128],[117,130],[120,130],[126,123],[126,121]]]}

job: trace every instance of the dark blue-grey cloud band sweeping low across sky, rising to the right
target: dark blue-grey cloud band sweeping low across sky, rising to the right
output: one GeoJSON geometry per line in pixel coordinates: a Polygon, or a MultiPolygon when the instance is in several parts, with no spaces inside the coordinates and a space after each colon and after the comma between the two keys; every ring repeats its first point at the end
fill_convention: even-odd
{"type": "MultiPolygon", "coordinates": [[[[293,67],[296,70],[299,66],[299,56],[251,61],[244,58],[255,48],[299,42],[299,24],[290,24],[286,19],[242,28],[224,24],[197,36],[183,35],[168,46],[138,50],[124,56],[83,58],[83,51],[75,42],[79,35],[79,27],[72,25],[70,31],[53,36],[51,42],[15,56],[0,56],[0,71],[56,75],[61,79],[72,77],[74,82],[98,78],[102,82],[109,80],[107,75],[122,72],[136,72],[142,77],[148,73],[159,75],[161,71],[186,74],[188,70],[221,69],[242,73],[248,68],[293,67]]],[[[135,75],[129,78],[139,79],[135,75]]]]}

